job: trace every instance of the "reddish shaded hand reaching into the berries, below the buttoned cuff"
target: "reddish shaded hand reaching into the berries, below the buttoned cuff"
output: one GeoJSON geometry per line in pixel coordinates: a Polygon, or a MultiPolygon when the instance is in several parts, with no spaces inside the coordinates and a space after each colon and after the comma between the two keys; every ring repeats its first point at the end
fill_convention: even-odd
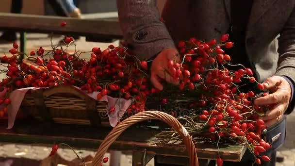
{"type": "Polygon", "coordinates": [[[163,90],[163,85],[160,83],[160,79],[164,79],[168,83],[179,84],[179,80],[171,76],[168,67],[169,60],[179,63],[180,59],[177,55],[178,51],[176,49],[166,49],[159,53],[152,61],[150,81],[157,89],[163,90]]]}

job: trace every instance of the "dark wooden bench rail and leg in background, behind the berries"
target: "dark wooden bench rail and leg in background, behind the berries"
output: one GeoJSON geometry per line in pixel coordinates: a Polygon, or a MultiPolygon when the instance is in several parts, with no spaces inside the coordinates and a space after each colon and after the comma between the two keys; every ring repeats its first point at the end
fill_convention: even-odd
{"type": "MultiPolygon", "coordinates": [[[[0,29],[20,32],[20,51],[26,50],[26,33],[55,33],[86,36],[92,41],[121,39],[122,32],[114,13],[89,15],[86,19],[0,13],[0,29]],[[108,18],[109,16],[109,18],[108,18]],[[66,26],[60,24],[66,21],[66,26]]],[[[23,56],[22,56],[23,58],[23,56]]]]}

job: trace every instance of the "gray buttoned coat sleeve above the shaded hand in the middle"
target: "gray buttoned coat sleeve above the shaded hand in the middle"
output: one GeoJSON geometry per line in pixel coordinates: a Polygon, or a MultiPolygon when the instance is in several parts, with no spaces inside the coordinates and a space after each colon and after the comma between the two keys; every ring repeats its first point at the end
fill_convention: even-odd
{"type": "Polygon", "coordinates": [[[174,42],[161,21],[156,0],[117,0],[123,37],[140,60],[147,60],[174,42]]]}

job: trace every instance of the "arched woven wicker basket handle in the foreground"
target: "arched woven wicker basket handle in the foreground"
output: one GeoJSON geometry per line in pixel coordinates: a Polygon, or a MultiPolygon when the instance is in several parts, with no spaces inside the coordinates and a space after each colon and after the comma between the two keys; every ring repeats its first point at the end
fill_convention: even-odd
{"type": "Polygon", "coordinates": [[[172,128],[174,128],[181,136],[183,143],[186,146],[188,151],[188,156],[190,157],[190,166],[198,166],[197,152],[195,144],[191,136],[187,133],[185,128],[180,124],[180,122],[173,116],[166,114],[160,111],[145,111],[130,116],[129,118],[120,122],[103,140],[101,145],[98,148],[98,151],[94,157],[90,166],[99,166],[102,161],[102,158],[106,151],[109,149],[111,144],[117,139],[117,137],[123,133],[131,125],[148,120],[148,119],[157,119],[161,120],[172,128]]]}

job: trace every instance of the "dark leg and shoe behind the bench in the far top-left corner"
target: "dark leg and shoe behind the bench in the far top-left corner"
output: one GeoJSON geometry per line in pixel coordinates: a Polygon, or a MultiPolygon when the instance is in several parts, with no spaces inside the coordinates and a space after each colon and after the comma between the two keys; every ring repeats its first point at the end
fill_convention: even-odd
{"type": "MultiPolygon", "coordinates": [[[[12,0],[10,12],[20,14],[22,9],[22,3],[23,3],[22,0],[12,0]]],[[[0,36],[0,43],[7,43],[7,42],[10,43],[14,41],[16,41],[15,31],[7,30],[7,31],[4,31],[2,35],[0,36]]]]}

